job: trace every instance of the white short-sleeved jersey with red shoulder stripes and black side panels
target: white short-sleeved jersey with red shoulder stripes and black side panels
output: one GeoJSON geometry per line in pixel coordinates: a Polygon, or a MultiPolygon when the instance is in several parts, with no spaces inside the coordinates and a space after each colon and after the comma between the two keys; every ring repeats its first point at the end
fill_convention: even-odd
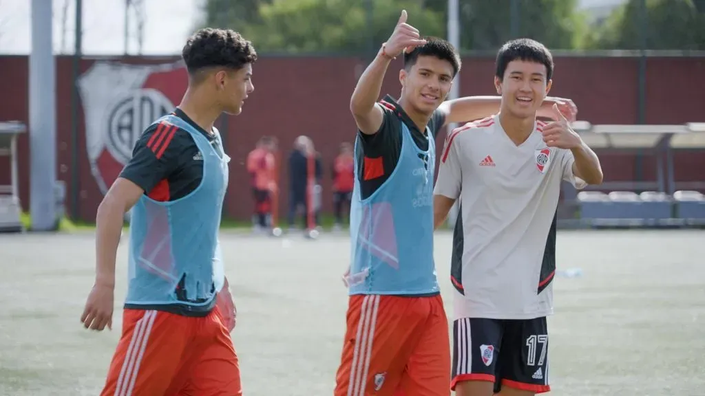
{"type": "Polygon", "coordinates": [[[570,150],[547,147],[546,123],[517,146],[498,116],[448,134],[434,194],[460,198],[451,281],[455,318],[530,319],[553,314],[556,209],[570,150]]]}

